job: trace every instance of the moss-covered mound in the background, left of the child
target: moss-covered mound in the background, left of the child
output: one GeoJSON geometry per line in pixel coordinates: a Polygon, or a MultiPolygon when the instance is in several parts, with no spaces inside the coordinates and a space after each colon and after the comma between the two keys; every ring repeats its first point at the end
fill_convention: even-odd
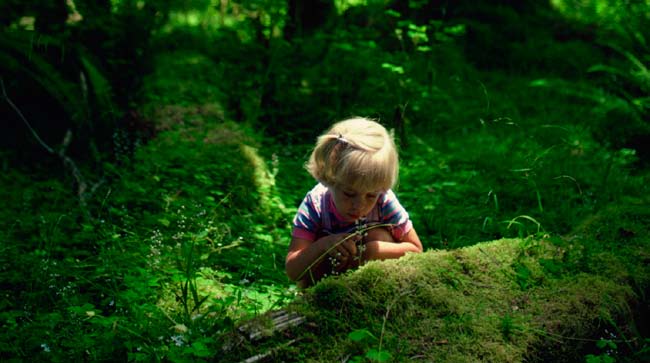
{"type": "Polygon", "coordinates": [[[242,216],[277,218],[282,203],[258,154],[260,136],[226,120],[223,95],[210,82],[221,76],[218,65],[196,52],[161,54],[154,63],[138,114],[155,137],[137,148],[113,199],[142,212],[149,228],[174,223],[177,208],[185,209],[182,219],[196,212],[235,225],[242,216]]]}

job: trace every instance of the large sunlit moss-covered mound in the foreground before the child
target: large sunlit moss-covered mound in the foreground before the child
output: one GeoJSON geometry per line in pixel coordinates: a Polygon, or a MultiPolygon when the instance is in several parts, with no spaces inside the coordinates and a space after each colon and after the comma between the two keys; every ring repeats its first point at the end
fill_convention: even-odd
{"type": "Polygon", "coordinates": [[[605,329],[619,349],[638,352],[634,314],[650,286],[649,217],[643,204],[616,206],[569,237],[369,263],[306,291],[290,307],[307,318],[301,327],[231,353],[309,362],[574,362],[597,353],[605,329]]]}

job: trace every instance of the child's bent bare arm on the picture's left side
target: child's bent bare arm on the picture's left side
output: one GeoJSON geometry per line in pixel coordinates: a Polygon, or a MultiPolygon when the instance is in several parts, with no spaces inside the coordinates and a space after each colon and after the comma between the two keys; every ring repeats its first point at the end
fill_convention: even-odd
{"type": "Polygon", "coordinates": [[[329,263],[327,255],[339,261],[340,268],[337,270],[343,270],[353,262],[357,254],[356,242],[361,238],[361,236],[355,235],[339,244],[341,240],[348,236],[347,233],[333,234],[316,241],[292,237],[289,253],[285,260],[287,276],[293,281],[300,280],[307,285],[310,285],[311,278],[315,281],[320,280],[326,271],[331,271],[331,266],[326,266],[329,269],[319,268],[323,262],[329,263]],[[320,260],[316,262],[319,258],[320,260]],[[311,274],[306,271],[310,266],[311,274]]]}

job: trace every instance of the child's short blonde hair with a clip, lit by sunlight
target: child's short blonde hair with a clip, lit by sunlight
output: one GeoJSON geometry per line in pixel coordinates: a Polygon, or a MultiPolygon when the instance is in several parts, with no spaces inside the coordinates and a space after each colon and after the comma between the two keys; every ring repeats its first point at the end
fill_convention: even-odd
{"type": "Polygon", "coordinates": [[[399,174],[392,135],[362,117],[337,122],[319,136],[305,167],[325,185],[368,191],[392,188],[399,174]]]}

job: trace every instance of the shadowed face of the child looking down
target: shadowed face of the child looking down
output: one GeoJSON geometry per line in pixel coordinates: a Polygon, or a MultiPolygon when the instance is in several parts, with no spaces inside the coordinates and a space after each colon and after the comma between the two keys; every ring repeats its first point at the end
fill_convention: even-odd
{"type": "Polygon", "coordinates": [[[358,190],[345,185],[332,188],[336,209],[348,222],[368,215],[380,194],[380,190],[358,190]]]}

